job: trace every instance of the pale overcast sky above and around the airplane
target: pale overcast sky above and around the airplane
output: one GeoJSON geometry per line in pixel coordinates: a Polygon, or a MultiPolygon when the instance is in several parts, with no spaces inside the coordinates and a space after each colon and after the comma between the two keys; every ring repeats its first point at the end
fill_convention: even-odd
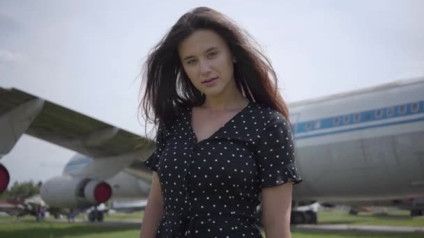
{"type": "MultiPolygon", "coordinates": [[[[19,88],[138,134],[147,52],[209,6],[249,31],[288,102],[424,75],[424,1],[0,1],[0,87],[19,88]],[[175,2],[175,3],[173,3],[175,2]]],[[[12,182],[61,174],[74,152],[22,136],[12,182]]]]}

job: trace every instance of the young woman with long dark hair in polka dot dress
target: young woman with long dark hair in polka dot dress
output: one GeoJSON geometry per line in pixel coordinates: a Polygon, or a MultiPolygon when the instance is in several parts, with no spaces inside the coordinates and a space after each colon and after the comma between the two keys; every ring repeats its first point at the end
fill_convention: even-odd
{"type": "Polygon", "coordinates": [[[275,72],[231,19],[183,15],[146,62],[142,109],[158,125],[141,228],[150,237],[290,237],[294,164],[275,72]]]}

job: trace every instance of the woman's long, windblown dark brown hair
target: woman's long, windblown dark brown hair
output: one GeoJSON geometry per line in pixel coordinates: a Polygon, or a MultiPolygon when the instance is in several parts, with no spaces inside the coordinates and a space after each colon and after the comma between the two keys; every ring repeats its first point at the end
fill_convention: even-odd
{"type": "Polygon", "coordinates": [[[248,98],[282,113],[287,120],[287,104],[278,92],[277,76],[271,62],[250,35],[232,19],[211,8],[200,7],[185,13],[160,42],[151,49],[142,76],[142,109],[147,122],[172,122],[185,106],[199,106],[204,95],[185,74],[178,53],[179,43],[199,29],[220,35],[236,58],[234,78],[248,98]]]}

